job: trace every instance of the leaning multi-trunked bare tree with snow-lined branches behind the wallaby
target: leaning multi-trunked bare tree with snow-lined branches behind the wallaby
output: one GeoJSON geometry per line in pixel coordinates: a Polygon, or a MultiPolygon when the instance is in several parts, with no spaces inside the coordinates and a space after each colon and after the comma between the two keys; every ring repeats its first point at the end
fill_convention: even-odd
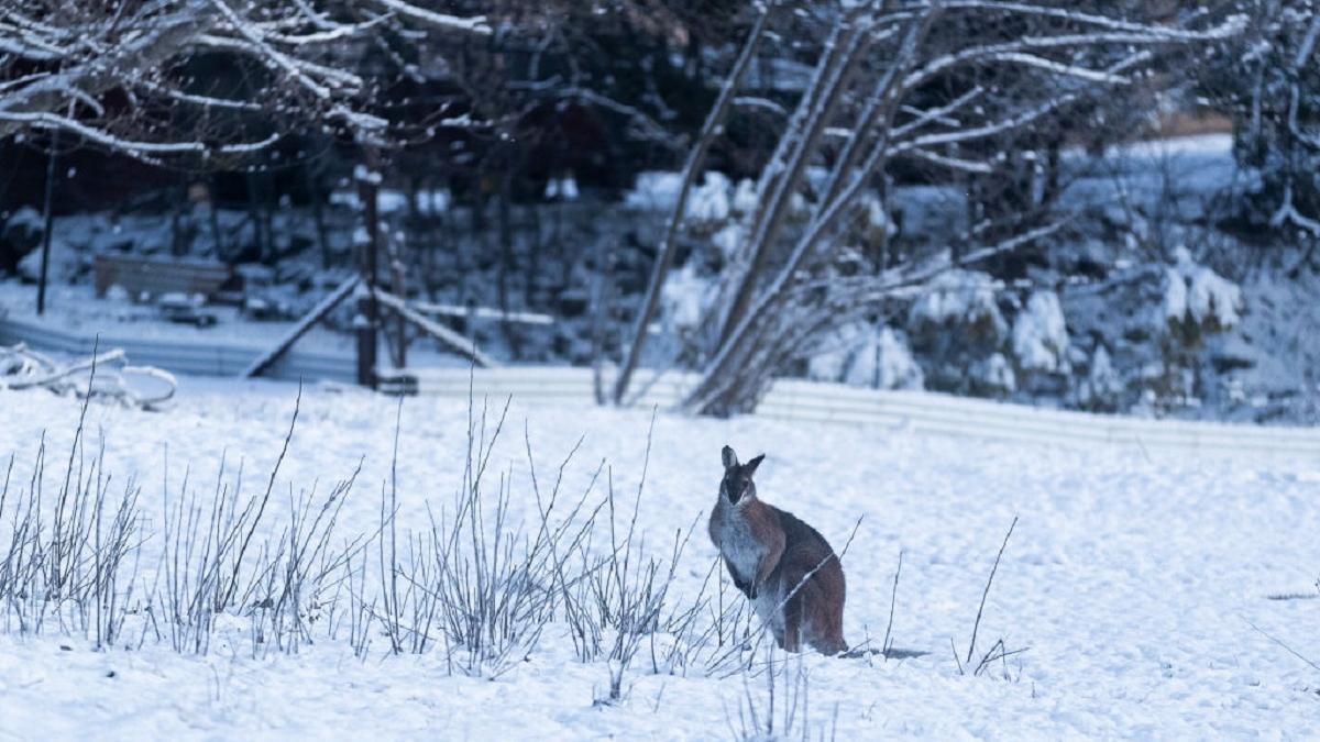
{"type": "Polygon", "coordinates": [[[875,1],[803,8],[797,16],[828,24],[830,33],[762,169],[756,207],[709,308],[704,368],[685,400],[701,413],[754,408],[804,342],[859,308],[1055,228],[1023,228],[986,244],[990,224],[973,223],[957,255],[842,281],[833,268],[846,248],[841,234],[861,197],[895,164],[990,173],[997,153],[978,143],[1038,125],[1097,90],[1129,84],[1146,73],[1154,48],[1225,38],[1242,26],[1238,17],[1213,22],[1195,15],[1185,26],[1155,25],[1067,3],[999,0],[875,1]],[[1006,90],[997,70],[1020,83],[1006,90]],[[791,227],[792,205],[803,201],[805,223],[791,227]]]}

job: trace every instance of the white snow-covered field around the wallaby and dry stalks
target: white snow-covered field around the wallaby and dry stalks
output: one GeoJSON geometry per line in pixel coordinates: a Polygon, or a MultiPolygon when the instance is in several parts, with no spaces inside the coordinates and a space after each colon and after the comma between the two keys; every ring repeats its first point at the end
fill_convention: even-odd
{"type": "MultiPolygon", "coordinates": [[[[107,471],[119,481],[136,474],[143,486],[144,549],[158,548],[152,523],[162,518],[166,457],[172,489],[189,469],[209,492],[222,455],[230,466],[244,459],[246,481],[257,482],[279,453],[294,393],[289,384],[185,379],[169,413],[90,408],[88,430],[104,438],[107,471]]],[[[314,481],[326,487],[363,459],[338,528],[370,531],[389,475],[395,405],[358,391],[306,389],[276,491],[314,481]]],[[[428,502],[447,502],[461,486],[467,404],[409,399],[401,415],[400,527],[425,529],[428,502]]],[[[51,452],[66,452],[77,417],[69,399],[0,392],[0,461],[15,454],[12,481],[26,482],[42,432],[51,452]]],[[[619,498],[626,519],[649,422],[642,411],[524,408],[515,400],[491,469],[512,478],[515,515],[527,516],[533,506],[524,424],[543,487],[585,436],[566,491],[581,491],[605,459],[615,490],[628,492],[619,498]]],[[[796,722],[805,714],[813,737],[1320,734],[1320,671],[1266,636],[1320,661],[1320,599],[1311,599],[1320,597],[1315,461],[1150,459],[1133,450],[661,413],[639,528],[667,555],[673,533],[698,523],[671,603],[697,591],[715,557],[704,514],[715,498],[723,444],[744,455],[766,452],[760,496],[816,525],[836,548],[863,519],[843,557],[850,643],[879,644],[903,553],[894,644],[929,654],[803,658],[809,706],[796,722]],[[979,676],[961,675],[950,639],[966,652],[1014,516],[978,647],[1002,638],[1008,650],[1026,651],[979,676]]],[[[0,545],[7,537],[0,528],[0,545]]],[[[487,680],[450,675],[440,651],[388,656],[379,638],[364,660],[325,638],[293,656],[252,659],[242,648],[243,619],[230,618],[206,656],[152,640],[140,650],[95,651],[81,632],[51,627],[40,636],[0,634],[0,739],[709,739],[741,729],[748,696],[762,716],[768,701],[763,675],[708,675],[701,667],[655,673],[643,650],[624,676],[624,698],[594,704],[609,669],[578,663],[560,624],[525,663],[487,680]]],[[[797,661],[788,667],[796,676],[797,661]]]]}

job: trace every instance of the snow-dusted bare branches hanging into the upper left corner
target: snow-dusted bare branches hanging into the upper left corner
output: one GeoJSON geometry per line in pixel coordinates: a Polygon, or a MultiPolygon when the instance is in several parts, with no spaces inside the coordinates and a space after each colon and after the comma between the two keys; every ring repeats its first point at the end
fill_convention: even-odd
{"type": "Polygon", "coordinates": [[[0,140],[61,131],[148,162],[232,162],[290,121],[379,141],[387,121],[345,50],[400,24],[490,33],[401,0],[0,0],[0,140]]]}

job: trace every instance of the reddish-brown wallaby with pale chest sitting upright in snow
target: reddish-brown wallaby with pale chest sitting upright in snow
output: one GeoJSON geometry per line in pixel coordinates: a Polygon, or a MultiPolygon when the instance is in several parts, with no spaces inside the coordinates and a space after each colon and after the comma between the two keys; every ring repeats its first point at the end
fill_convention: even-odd
{"type": "Polygon", "coordinates": [[[738,463],[734,449],[721,453],[725,475],[709,531],[734,586],[780,648],[797,652],[805,643],[822,655],[847,651],[843,568],[834,549],[793,514],[756,496],[751,478],[766,454],[738,463]]]}

